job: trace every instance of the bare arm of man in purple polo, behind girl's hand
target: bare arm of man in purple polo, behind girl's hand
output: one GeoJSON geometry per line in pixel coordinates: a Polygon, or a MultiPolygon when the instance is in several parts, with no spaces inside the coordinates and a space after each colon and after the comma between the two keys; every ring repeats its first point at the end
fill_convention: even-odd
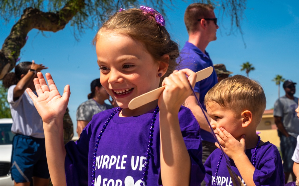
{"type": "MultiPolygon", "coordinates": [[[[196,97],[199,98],[199,93],[195,93],[196,97]]],[[[208,116],[207,112],[204,110],[204,113],[202,112],[202,109],[200,108],[200,106],[198,105],[198,102],[196,100],[196,97],[194,96],[194,94],[191,94],[190,96],[188,96],[188,98],[185,101],[185,107],[189,108],[191,110],[191,112],[193,113],[193,115],[195,116],[197,122],[199,123],[200,129],[206,130],[208,132],[211,131],[209,124],[205,118],[205,115],[208,116]]],[[[209,122],[211,121],[210,117],[207,117],[209,122]]]]}

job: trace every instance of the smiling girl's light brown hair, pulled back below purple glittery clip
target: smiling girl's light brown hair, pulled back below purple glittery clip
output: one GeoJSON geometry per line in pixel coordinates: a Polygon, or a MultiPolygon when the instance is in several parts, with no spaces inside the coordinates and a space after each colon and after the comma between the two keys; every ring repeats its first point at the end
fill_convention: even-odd
{"type": "Polygon", "coordinates": [[[127,35],[134,40],[144,43],[147,51],[155,61],[168,63],[167,72],[161,77],[160,86],[163,79],[176,69],[179,46],[170,39],[165,26],[158,25],[155,17],[150,13],[136,8],[116,12],[99,29],[93,39],[94,45],[103,33],[109,32],[127,35]],[[164,54],[169,55],[169,61],[165,61],[162,58],[164,54]]]}

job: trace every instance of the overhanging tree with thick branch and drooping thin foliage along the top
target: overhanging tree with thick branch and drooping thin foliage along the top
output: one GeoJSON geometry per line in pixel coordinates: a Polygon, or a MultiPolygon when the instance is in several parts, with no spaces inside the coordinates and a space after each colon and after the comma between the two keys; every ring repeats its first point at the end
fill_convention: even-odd
{"type": "MultiPolygon", "coordinates": [[[[85,29],[93,28],[106,19],[111,12],[120,7],[129,7],[146,2],[162,14],[164,6],[170,7],[174,0],[2,0],[0,16],[6,22],[18,21],[12,27],[0,50],[0,79],[11,71],[18,61],[20,51],[26,44],[28,32],[38,29],[41,32],[57,32],[68,23],[74,28],[74,37],[78,39],[85,29]]],[[[231,32],[235,28],[242,33],[240,23],[244,17],[246,0],[201,0],[220,9],[222,15],[231,18],[231,32]]],[[[175,3],[174,3],[175,4],[175,3]]]]}

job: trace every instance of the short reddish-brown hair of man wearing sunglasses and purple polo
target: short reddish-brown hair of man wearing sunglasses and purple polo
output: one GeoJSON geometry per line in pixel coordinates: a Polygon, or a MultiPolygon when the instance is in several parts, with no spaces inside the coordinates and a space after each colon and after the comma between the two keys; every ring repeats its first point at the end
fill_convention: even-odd
{"type": "Polygon", "coordinates": [[[211,4],[193,3],[185,10],[184,22],[188,33],[196,31],[199,24],[198,19],[206,18],[210,14],[210,10],[214,10],[211,4]]]}

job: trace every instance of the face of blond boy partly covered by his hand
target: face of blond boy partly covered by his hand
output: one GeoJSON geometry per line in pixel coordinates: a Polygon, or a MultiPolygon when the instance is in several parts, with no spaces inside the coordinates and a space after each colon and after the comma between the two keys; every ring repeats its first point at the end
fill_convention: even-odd
{"type": "Polygon", "coordinates": [[[223,108],[215,102],[208,103],[206,108],[208,115],[210,115],[210,124],[215,134],[218,134],[217,128],[222,127],[234,138],[237,140],[240,139],[240,137],[243,135],[241,113],[239,116],[236,116],[233,111],[223,108]]]}

